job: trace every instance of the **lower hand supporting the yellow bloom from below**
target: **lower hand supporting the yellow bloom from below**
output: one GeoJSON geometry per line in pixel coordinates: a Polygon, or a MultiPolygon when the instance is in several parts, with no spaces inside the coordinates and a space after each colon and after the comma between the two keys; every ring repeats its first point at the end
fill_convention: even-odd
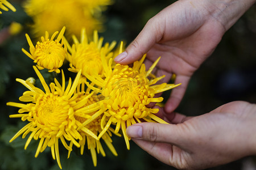
{"type": "Polygon", "coordinates": [[[234,101],[212,112],[171,122],[143,122],[127,128],[138,146],[178,169],[205,169],[256,154],[256,105],[234,101]]]}

